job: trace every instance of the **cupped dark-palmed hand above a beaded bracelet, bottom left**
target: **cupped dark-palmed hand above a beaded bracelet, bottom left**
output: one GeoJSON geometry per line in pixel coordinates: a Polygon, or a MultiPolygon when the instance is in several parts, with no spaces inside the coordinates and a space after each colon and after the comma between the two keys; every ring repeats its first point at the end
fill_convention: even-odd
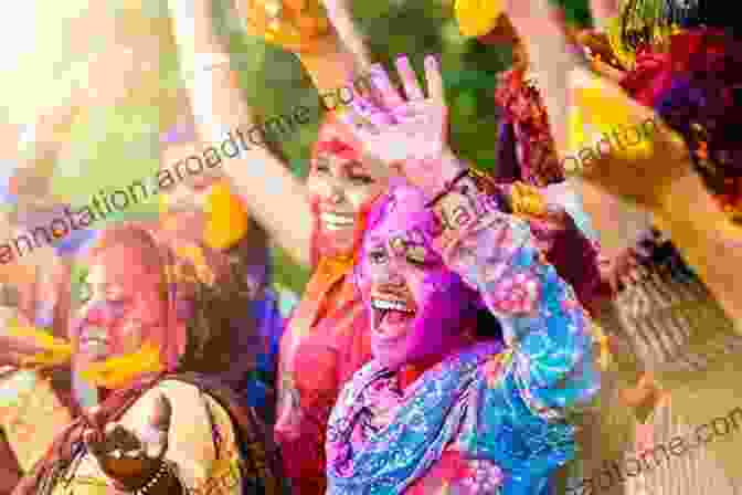
{"type": "Polygon", "coordinates": [[[96,424],[96,412],[91,412],[89,422],[93,425],[84,433],[88,452],[114,482],[126,489],[138,489],[160,468],[168,451],[172,404],[160,393],[149,417],[134,429],[109,423],[100,431],[96,424]]]}

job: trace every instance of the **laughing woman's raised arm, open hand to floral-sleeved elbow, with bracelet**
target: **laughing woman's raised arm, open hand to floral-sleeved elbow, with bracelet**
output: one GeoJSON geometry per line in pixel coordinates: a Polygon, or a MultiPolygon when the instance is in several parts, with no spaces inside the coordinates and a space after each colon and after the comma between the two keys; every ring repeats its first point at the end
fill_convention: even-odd
{"type": "MultiPolygon", "coordinates": [[[[502,213],[492,196],[479,192],[448,148],[435,57],[425,60],[427,98],[406,59],[398,61],[398,70],[410,97],[400,109],[405,118],[354,131],[370,155],[400,162],[407,179],[431,198],[438,217],[437,249],[502,323],[513,356],[513,387],[533,412],[549,415],[586,401],[597,390],[592,324],[574,291],[537,247],[528,223],[502,213]]],[[[384,86],[389,97],[394,89],[384,86]]]]}

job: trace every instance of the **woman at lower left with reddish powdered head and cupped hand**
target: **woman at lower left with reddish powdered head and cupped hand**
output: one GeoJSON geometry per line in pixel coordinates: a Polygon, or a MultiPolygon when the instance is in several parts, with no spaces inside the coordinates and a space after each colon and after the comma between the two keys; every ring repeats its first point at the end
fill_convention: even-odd
{"type": "Polygon", "coordinates": [[[73,367],[91,371],[104,401],[57,436],[14,493],[57,493],[62,476],[80,489],[280,489],[259,415],[219,381],[193,372],[199,350],[226,329],[189,325],[195,299],[193,287],[176,277],[181,262],[144,229],[104,232],[71,329],[73,367]]]}

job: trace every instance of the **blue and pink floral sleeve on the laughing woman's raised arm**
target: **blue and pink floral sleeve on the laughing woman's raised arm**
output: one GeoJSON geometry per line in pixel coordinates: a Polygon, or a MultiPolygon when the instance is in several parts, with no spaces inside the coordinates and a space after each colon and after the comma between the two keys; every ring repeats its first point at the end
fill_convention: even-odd
{"type": "MultiPolygon", "coordinates": [[[[438,214],[470,208],[473,198],[452,193],[438,214]]],[[[592,324],[524,220],[494,209],[469,211],[479,214],[456,227],[447,222],[442,254],[502,325],[509,358],[501,376],[512,377],[533,413],[563,417],[565,408],[586,401],[598,388],[592,324]]]]}

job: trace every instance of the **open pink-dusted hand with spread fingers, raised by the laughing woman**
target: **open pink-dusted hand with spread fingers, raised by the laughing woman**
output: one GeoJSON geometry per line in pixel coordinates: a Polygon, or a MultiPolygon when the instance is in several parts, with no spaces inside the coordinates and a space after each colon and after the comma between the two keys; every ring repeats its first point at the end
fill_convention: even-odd
{"type": "Polygon", "coordinates": [[[340,118],[362,141],[370,160],[396,169],[413,185],[435,194],[464,168],[448,147],[448,107],[438,61],[434,55],[425,57],[427,97],[406,56],[396,60],[396,69],[406,99],[386,72],[374,65],[371,81],[377,103],[359,96],[340,118]]]}

